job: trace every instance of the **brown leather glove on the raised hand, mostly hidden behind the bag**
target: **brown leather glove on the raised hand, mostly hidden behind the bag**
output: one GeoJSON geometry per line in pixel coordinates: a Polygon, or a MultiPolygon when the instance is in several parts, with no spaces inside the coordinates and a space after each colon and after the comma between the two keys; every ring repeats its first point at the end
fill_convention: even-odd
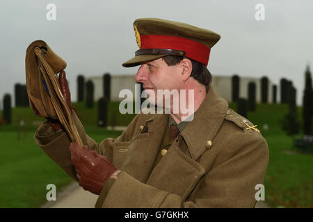
{"type": "MultiPolygon", "coordinates": [[[[65,99],[66,105],[68,108],[70,108],[72,114],[73,114],[73,110],[72,110],[72,104],[71,104],[71,92],[70,89],[67,85],[67,80],[66,80],[66,74],[64,70],[60,71],[60,74],[58,75],[58,83],[60,83],[61,86],[61,93],[63,95],[63,98],[65,99]]],[[[50,119],[50,118],[46,118],[50,125],[54,128],[54,130],[58,131],[61,130],[61,123],[60,121],[58,121],[58,119],[50,119]]]]}

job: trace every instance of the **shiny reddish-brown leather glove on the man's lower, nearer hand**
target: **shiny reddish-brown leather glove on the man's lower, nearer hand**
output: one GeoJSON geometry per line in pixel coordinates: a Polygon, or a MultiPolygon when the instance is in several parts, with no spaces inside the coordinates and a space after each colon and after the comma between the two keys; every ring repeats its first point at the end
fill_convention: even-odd
{"type": "Polygon", "coordinates": [[[99,195],[106,180],[112,178],[113,173],[120,173],[105,156],[99,155],[88,146],[79,146],[77,142],[72,142],[70,152],[79,185],[93,194],[99,195]]]}

